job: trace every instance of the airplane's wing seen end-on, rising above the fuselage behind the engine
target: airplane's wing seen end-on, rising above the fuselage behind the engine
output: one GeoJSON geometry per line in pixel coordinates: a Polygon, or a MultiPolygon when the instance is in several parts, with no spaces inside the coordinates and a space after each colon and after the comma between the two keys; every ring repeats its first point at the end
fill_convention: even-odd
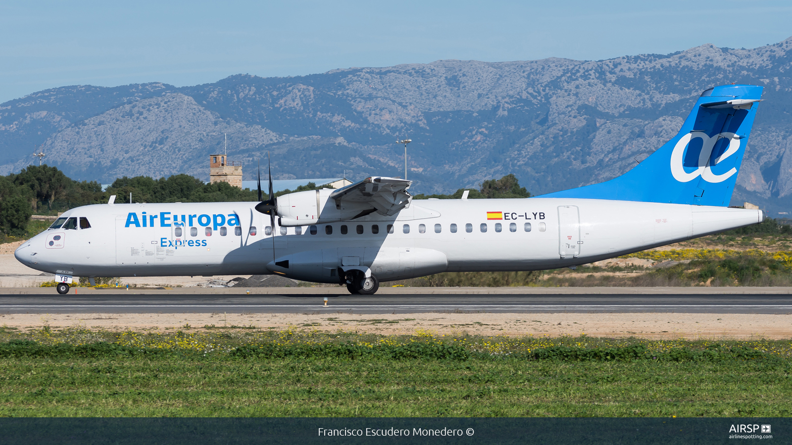
{"type": "Polygon", "coordinates": [[[398,177],[367,177],[330,193],[329,199],[336,201],[336,207],[341,203],[367,203],[373,207],[371,211],[392,216],[413,200],[407,192],[411,183],[398,177]]]}

